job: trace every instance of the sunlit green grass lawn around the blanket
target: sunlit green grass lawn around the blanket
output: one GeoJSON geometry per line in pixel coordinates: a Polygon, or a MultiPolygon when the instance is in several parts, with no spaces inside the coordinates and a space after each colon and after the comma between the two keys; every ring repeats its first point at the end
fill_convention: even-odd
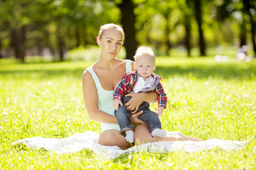
{"type": "Polygon", "coordinates": [[[47,151],[12,146],[28,137],[100,133],[82,99],[81,75],[91,64],[0,60],[0,169],[256,168],[255,59],[247,63],[215,62],[213,57],[156,59],[155,73],[162,76],[168,97],[160,118],[163,129],[204,140],[250,140],[241,150],[138,152],[106,160],[86,150],[50,156],[47,151]]]}

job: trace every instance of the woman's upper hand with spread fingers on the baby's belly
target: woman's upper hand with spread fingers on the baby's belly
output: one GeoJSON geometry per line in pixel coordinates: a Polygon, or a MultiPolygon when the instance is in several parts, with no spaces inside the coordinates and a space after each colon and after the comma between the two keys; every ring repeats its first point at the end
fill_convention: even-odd
{"type": "Polygon", "coordinates": [[[139,109],[139,105],[142,104],[142,102],[144,101],[144,92],[142,93],[132,93],[132,94],[127,94],[125,95],[127,96],[131,96],[131,99],[125,104],[125,106],[127,107],[127,109],[129,111],[133,111],[131,112],[131,114],[137,113],[138,109],[139,109]]]}

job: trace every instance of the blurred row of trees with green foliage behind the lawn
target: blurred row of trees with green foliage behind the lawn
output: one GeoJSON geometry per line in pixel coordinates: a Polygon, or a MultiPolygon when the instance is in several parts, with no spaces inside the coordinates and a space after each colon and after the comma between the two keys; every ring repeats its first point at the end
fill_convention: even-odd
{"type": "Polygon", "coordinates": [[[0,57],[52,56],[63,60],[72,49],[96,45],[102,24],[123,25],[126,58],[138,45],[156,55],[174,49],[237,49],[256,53],[253,0],[0,0],[0,57]]]}

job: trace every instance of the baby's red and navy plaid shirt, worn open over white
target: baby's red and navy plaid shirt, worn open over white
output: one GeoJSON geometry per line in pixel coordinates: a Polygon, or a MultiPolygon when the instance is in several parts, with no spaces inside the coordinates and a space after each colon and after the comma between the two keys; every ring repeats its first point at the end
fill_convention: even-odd
{"type": "MultiPolygon", "coordinates": [[[[127,93],[130,92],[130,78],[131,78],[131,75],[135,75],[135,76],[133,76],[134,77],[133,86],[135,85],[135,83],[137,82],[137,78],[138,78],[137,71],[132,71],[130,73],[126,73],[121,78],[121,80],[117,84],[117,86],[114,88],[114,92],[113,92],[113,98],[114,99],[121,100],[121,98],[123,96],[125,96],[127,93]]],[[[167,96],[166,96],[166,93],[164,92],[162,84],[159,82],[159,80],[161,78],[160,78],[160,76],[156,75],[155,73],[153,73],[151,76],[154,78],[153,86],[151,88],[143,88],[139,92],[155,91],[158,94],[158,107],[166,108],[167,96]],[[156,83],[158,83],[158,84],[156,84],[156,83]]]]}

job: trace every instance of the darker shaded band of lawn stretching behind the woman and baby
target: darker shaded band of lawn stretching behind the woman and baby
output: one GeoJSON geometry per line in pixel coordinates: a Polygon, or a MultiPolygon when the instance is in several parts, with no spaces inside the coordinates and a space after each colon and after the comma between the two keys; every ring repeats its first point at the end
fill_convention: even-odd
{"type": "MultiPolygon", "coordinates": [[[[39,66],[40,67],[40,66],[39,66]]],[[[84,68],[86,69],[86,67],[84,68]]],[[[2,70],[0,75],[2,77],[19,74],[19,78],[31,78],[31,74],[35,74],[35,78],[50,78],[55,76],[71,76],[81,78],[84,69],[44,69],[44,67],[36,70],[2,70]]],[[[196,65],[196,66],[157,66],[155,73],[162,77],[162,79],[175,78],[176,76],[195,77],[197,79],[212,78],[221,79],[241,79],[251,80],[256,79],[256,69],[253,64],[238,65],[196,65]]]]}

